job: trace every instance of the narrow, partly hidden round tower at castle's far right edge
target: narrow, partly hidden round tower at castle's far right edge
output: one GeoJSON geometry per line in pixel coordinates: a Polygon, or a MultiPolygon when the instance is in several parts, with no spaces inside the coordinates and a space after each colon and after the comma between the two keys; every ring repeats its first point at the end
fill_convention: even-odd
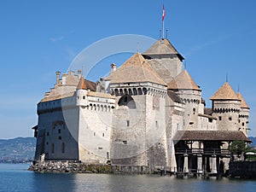
{"type": "Polygon", "coordinates": [[[248,107],[247,102],[241,96],[240,92],[237,93],[237,96],[239,99],[241,99],[241,110],[240,110],[239,119],[238,119],[238,123],[239,123],[238,129],[242,131],[244,135],[247,137],[250,108],[248,107]]]}

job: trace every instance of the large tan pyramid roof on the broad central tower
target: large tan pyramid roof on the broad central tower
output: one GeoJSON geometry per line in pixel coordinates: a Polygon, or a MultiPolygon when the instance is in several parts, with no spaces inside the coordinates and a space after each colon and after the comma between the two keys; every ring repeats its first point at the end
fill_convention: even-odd
{"type": "Polygon", "coordinates": [[[110,80],[111,84],[151,82],[166,86],[166,83],[160,78],[158,73],[149,66],[148,61],[139,53],[132,55],[115,72],[110,73],[107,80],[110,80]]]}

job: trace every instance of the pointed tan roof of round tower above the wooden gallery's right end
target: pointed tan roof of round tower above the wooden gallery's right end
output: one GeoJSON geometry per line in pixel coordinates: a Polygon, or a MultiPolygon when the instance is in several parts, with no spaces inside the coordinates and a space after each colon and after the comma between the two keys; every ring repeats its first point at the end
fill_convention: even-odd
{"type": "Polygon", "coordinates": [[[236,92],[232,89],[228,82],[224,83],[221,88],[210,98],[211,100],[235,100],[241,99],[236,96],[236,92]]]}

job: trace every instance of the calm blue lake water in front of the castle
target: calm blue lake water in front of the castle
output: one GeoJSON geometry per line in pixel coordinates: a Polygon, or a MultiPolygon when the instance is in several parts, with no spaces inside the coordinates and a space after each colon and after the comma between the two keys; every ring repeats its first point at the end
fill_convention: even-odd
{"type": "Polygon", "coordinates": [[[256,191],[256,180],[184,178],[147,175],[28,172],[28,165],[0,164],[0,191],[256,191]]]}

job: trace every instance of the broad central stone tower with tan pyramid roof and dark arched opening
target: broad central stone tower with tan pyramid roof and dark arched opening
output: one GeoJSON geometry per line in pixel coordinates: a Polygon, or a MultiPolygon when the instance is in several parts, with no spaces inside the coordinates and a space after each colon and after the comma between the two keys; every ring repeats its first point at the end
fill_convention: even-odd
{"type": "Polygon", "coordinates": [[[113,110],[113,165],[166,166],[166,83],[136,53],[110,73],[113,110]]]}

